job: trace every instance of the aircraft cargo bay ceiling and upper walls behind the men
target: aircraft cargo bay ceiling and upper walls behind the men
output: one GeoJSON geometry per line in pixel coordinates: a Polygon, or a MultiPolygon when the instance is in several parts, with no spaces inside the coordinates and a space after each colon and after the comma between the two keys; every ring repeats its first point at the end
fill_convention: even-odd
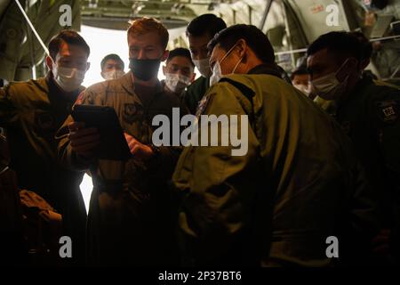
{"type": "MultiPolygon", "coordinates": [[[[331,30],[361,30],[372,40],[400,34],[400,0],[20,0],[20,4],[45,44],[62,28],[59,25],[62,4],[71,6],[70,28],[75,29],[87,25],[124,30],[130,20],[154,17],[169,29],[170,48],[187,46],[184,30],[188,21],[211,12],[228,25],[245,23],[261,28],[285,69],[296,64],[301,51],[316,37],[331,30]],[[326,8],[332,4],[339,9],[338,24],[328,26],[326,8]]],[[[37,65],[43,61],[44,51],[14,0],[0,0],[0,30],[0,64],[5,67],[0,69],[0,77],[27,78],[32,62],[37,65]]],[[[396,62],[393,57],[399,56],[399,41],[395,37],[388,44],[395,46],[395,52],[392,48],[392,58],[382,56],[380,61],[396,62]]],[[[382,68],[379,72],[381,77],[392,74],[390,67],[385,69],[388,70],[382,68]]]]}

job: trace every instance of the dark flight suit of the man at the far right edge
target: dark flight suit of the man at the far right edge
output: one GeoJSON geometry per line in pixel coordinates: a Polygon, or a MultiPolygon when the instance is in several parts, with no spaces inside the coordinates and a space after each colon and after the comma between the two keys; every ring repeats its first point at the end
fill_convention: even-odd
{"type": "Polygon", "coordinates": [[[335,116],[354,143],[356,155],[379,194],[384,226],[396,229],[396,247],[400,224],[399,115],[400,89],[364,77],[348,98],[338,103],[335,116]]]}

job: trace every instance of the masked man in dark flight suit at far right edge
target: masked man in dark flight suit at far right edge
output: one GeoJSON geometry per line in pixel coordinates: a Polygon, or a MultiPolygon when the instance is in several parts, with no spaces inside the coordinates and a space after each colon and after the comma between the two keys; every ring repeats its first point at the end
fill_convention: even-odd
{"type": "Polygon", "coordinates": [[[397,235],[378,238],[391,243],[392,249],[397,247],[393,251],[398,255],[398,241],[394,241],[400,208],[400,90],[362,77],[363,50],[354,34],[325,34],[308,47],[308,69],[313,93],[335,102],[334,118],[356,146],[356,155],[380,197],[383,227],[397,235]]]}

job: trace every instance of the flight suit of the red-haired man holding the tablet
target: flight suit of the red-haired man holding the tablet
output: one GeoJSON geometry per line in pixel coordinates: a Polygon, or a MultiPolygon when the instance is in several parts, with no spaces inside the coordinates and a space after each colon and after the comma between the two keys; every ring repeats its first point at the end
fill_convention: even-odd
{"type": "MultiPolygon", "coordinates": [[[[150,145],[156,127],[152,119],[172,108],[180,98],[165,93],[161,84],[148,94],[136,94],[132,72],[88,87],[78,101],[110,106],[116,110],[125,133],[150,145]]],[[[181,112],[183,113],[183,112],[181,112]]],[[[167,182],[180,155],[180,147],[161,146],[148,162],[85,161],[72,151],[68,140],[68,117],[59,131],[59,155],[76,170],[90,168],[93,191],[88,215],[88,258],[92,265],[171,265],[176,263],[175,221],[167,182]]]]}

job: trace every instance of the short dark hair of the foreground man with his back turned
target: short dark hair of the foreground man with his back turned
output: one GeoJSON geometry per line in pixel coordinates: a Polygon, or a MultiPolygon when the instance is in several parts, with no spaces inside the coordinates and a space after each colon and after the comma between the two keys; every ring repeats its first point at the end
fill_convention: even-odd
{"type": "Polygon", "coordinates": [[[210,43],[208,49],[210,53],[215,45],[220,44],[225,51],[228,51],[239,39],[244,39],[252,48],[260,61],[264,63],[274,63],[275,54],[268,37],[260,30],[252,25],[237,24],[221,30],[215,35],[210,43]]]}

